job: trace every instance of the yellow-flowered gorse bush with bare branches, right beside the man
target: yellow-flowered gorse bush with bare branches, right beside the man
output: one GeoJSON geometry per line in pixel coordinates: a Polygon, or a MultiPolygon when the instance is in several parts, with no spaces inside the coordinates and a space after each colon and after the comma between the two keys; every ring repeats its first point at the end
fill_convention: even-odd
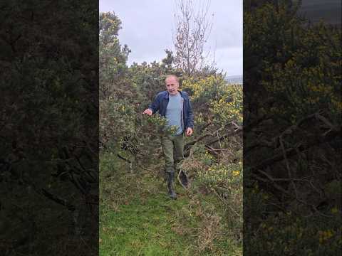
{"type": "MultiPolygon", "coordinates": [[[[190,92],[195,111],[195,132],[200,140],[192,146],[182,168],[194,176],[199,191],[219,199],[224,215],[219,221],[227,238],[242,238],[242,86],[229,85],[222,75],[185,78],[182,90],[190,92]],[[232,124],[234,123],[234,124],[232,124]],[[231,137],[224,137],[226,133],[231,137]]],[[[191,142],[190,142],[191,144],[191,142]]]]}

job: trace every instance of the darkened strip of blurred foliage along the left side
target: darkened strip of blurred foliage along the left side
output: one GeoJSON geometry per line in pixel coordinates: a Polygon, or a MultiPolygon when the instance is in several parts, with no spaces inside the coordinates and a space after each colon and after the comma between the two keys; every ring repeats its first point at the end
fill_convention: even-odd
{"type": "Polygon", "coordinates": [[[98,4],[0,17],[1,255],[97,255],[98,4]]]}

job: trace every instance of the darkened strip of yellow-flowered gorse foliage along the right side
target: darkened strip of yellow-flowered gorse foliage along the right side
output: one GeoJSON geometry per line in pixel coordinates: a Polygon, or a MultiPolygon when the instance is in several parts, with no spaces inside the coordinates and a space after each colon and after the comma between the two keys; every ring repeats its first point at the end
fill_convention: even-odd
{"type": "Polygon", "coordinates": [[[341,252],[341,26],[244,4],[244,255],[341,252]]]}

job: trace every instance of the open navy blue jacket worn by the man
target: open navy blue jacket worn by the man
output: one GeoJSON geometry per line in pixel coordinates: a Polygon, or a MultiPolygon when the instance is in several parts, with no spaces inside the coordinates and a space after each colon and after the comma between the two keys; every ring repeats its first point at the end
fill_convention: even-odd
{"type": "MultiPolygon", "coordinates": [[[[192,107],[190,104],[189,95],[187,95],[187,92],[180,92],[180,96],[184,99],[183,101],[183,124],[185,131],[188,127],[194,129],[194,115],[192,114],[192,107]]],[[[162,117],[165,117],[166,113],[166,107],[169,103],[169,92],[162,91],[155,96],[155,100],[152,102],[152,104],[148,107],[150,110],[152,110],[152,113],[155,114],[155,112],[159,112],[159,114],[162,117]]]]}

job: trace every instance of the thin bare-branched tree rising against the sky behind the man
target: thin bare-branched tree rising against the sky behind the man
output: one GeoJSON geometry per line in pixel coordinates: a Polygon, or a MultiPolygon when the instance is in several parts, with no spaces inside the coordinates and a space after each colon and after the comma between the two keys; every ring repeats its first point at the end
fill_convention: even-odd
{"type": "MultiPolygon", "coordinates": [[[[212,30],[212,18],[208,17],[210,1],[206,3],[196,1],[195,6],[192,0],[175,0],[174,63],[187,75],[208,67],[209,50],[205,51],[204,46],[212,30]]],[[[210,65],[214,65],[214,60],[210,65]]]]}

